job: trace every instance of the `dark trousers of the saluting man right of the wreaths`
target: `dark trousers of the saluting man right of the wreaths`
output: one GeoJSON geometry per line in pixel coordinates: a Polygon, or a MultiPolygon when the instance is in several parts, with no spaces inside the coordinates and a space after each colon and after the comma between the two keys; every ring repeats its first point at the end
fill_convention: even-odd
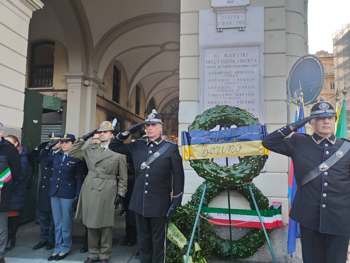
{"type": "Polygon", "coordinates": [[[303,263],[345,263],[350,236],[321,233],[300,225],[303,263]]]}

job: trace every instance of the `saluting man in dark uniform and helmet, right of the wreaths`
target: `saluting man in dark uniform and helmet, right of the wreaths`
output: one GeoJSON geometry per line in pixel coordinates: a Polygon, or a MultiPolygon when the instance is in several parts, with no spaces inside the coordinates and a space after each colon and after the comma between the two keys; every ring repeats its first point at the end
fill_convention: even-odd
{"type": "Polygon", "coordinates": [[[346,262],[350,237],[350,142],[334,136],[337,113],[322,97],[309,117],[284,126],[262,140],[290,156],[297,191],[289,217],[300,223],[304,263],[346,262]],[[307,122],[312,135],[296,133],[307,122]]]}

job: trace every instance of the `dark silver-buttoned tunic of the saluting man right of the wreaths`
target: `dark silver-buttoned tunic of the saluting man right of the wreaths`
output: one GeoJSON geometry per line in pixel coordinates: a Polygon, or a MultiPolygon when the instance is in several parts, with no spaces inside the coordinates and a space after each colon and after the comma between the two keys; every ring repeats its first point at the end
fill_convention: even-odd
{"type": "MultiPolygon", "coordinates": [[[[286,138],[289,126],[274,131],[262,145],[290,156],[296,182],[320,166],[342,146],[345,139],[296,133],[286,138]]],[[[296,191],[289,217],[322,233],[350,235],[350,151],[334,166],[296,191]]]]}

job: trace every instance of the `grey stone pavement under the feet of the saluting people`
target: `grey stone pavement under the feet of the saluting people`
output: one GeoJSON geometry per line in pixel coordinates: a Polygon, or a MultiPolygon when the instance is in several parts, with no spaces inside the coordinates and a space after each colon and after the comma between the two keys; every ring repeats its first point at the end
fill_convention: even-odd
{"type": "MultiPolygon", "coordinates": [[[[110,263],[139,263],[135,259],[138,251],[137,245],[134,247],[121,246],[125,235],[125,216],[119,216],[120,208],[115,212],[115,226],[113,228],[113,248],[110,263]]],[[[69,255],[59,262],[77,263],[84,262],[89,256],[89,252],[80,253],[84,243],[85,227],[80,220],[74,220],[73,242],[69,255]]],[[[47,258],[53,253],[45,248],[33,250],[33,246],[40,242],[40,226],[35,222],[21,225],[16,235],[16,246],[5,255],[6,263],[39,263],[48,262],[47,258]]],[[[56,261],[53,261],[56,262],[56,261]]]]}

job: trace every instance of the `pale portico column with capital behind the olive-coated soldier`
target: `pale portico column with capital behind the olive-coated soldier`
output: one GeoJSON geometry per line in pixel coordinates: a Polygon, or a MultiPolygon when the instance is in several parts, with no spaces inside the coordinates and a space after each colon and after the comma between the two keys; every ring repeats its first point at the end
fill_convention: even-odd
{"type": "Polygon", "coordinates": [[[64,72],[68,82],[66,133],[81,137],[96,128],[96,98],[102,80],[84,72],[64,72]]]}

